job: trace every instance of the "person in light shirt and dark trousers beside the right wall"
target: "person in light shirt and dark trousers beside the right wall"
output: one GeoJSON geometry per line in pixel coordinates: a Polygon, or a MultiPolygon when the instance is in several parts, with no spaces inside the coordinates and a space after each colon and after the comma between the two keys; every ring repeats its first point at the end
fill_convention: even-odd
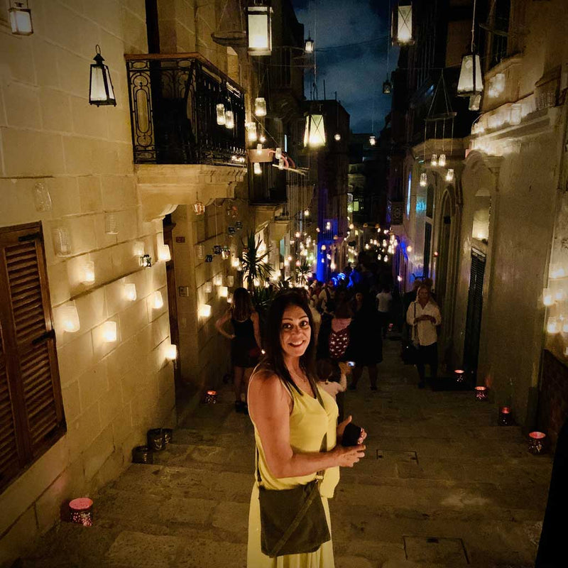
{"type": "Polygon", "coordinates": [[[406,322],[412,329],[411,341],[418,349],[416,367],[418,369],[418,387],[424,388],[425,365],[430,365],[430,376],[437,378],[438,372],[438,335],[437,326],[442,323],[439,307],[430,298],[427,285],[420,285],[417,297],[408,307],[406,322]]]}

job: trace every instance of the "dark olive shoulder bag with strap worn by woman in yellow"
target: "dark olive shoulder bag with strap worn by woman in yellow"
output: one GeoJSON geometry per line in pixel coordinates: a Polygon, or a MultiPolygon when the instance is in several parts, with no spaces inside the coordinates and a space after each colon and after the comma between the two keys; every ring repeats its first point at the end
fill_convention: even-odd
{"type": "MultiPolygon", "coordinates": [[[[323,406],[320,393],[317,400],[323,406]]],[[[327,435],[324,435],[320,451],[327,449],[327,435]]],[[[258,469],[258,447],[256,448],[256,481],[258,500],[261,506],[261,550],[271,558],[285,555],[315,552],[331,540],[324,506],[320,496],[320,479],[324,471],[317,472],[317,478],[309,484],[292,489],[273,490],[261,485],[258,469]]]]}

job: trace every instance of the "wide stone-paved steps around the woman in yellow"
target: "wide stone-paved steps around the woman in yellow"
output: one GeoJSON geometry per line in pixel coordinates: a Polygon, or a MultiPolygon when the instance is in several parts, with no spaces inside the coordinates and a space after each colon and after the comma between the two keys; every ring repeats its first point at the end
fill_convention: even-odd
{"type": "MultiPolygon", "coordinates": [[[[528,454],[520,429],[499,427],[471,391],[419,390],[399,348],[386,342],[378,391],[364,375],[346,393],[368,439],[331,502],[336,567],[532,567],[550,457],[528,454]]],[[[23,566],[244,568],[253,455],[226,388],[153,465],[99,491],[94,527],[62,523],[23,566]]]]}

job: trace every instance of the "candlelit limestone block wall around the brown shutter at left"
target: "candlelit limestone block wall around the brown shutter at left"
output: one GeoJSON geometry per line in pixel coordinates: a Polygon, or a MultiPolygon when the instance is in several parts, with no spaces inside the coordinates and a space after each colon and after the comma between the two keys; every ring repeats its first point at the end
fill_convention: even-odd
{"type": "Polygon", "coordinates": [[[66,498],[92,493],[131,461],[148,427],[172,425],[173,373],[165,265],[156,259],[161,222],[144,222],[133,177],[124,53],[147,50],[143,0],[31,3],[34,33],[0,25],[0,225],[43,223],[67,435],[0,495],[0,562],[18,555],[58,519],[66,498]],[[88,102],[95,45],[111,70],[116,107],[88,102]],[[36,184],[52,207],[38,212],[36,184]],[[117,234],[107,234],[114,214],[117,234]],[[65,228],[70,256],[57,256],[65,228]],[[84,261],[96,280],[81,283],[84,261]],[[135,301],[124,283],[136,283],[135,301]],[[153,309],[150,295],[162,293],[153,309]],[[80,331],[62,331],[60,307],[76,298],[80,331]],[[104,343],[102,323],[119,339],[104,343]]]}

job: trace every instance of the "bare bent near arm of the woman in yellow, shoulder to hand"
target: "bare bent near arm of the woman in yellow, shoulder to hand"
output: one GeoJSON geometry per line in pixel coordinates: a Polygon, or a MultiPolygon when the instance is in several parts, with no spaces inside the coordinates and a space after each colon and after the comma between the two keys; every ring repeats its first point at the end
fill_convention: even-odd
{"type": "Polygon", "coordinates": [[[261,437],[266,463],[276,478],[315,474],[334,466],[352,467],[364,457],[364,446],[336,446],[330,452],[294,453],[290,447],[292,400],[282,381],[255,373],[249,383],[249,413],[261,437]]]}

